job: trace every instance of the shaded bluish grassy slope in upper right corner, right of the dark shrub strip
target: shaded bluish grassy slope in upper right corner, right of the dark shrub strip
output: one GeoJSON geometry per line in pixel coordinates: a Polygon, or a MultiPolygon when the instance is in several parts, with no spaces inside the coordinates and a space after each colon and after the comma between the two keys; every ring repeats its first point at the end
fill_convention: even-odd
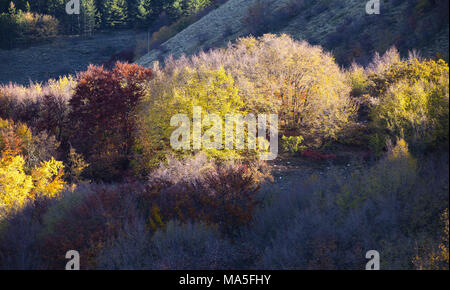
{"type": "MultiPolygon", "coordinates": [[[[329,1],[317,3],[320,2],[329,1]]],[[[412,49],[418,50],[423,56],[434,56],[436,52],[440,52],[448,60],[448,26],[427,37],[427,41],[423,41],[421,39],[423,35],[408,31],[412,17],[408,1],[397,2],[399,4],[382,3],[380,15],[367,15],[365,1],[346,0],[345,4],[338,4],[309,20],[300,13],[281,29],[281,32],[323,45],[334,52],[338,61],[345,64],[353,59],[364,63],[373,52],[383,53],[393,45],[399,47],[403,54],[412,49]],[[333,34],[342,37],[343,40],[331,42],[330,35],[333,34]],[[364,55],[356,51],[358,45],[367,50],[364,55]]],[[[317,6],[320,4],[310,9],[317,9],[317,6]]],[[[429,22],[434,21],[433,17],[430,11],[424,12],[418,17],[418,22],[427,27],[429,22]]]]}

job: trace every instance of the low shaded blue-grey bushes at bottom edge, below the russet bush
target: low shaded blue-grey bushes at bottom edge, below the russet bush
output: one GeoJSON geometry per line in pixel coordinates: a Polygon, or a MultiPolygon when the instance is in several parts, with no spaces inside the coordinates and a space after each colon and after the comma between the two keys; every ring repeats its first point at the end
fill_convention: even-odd
{"type": "Polygon", "coordinates": [[[228,269],[233,247],[203,223],[167,223],[149,237],[142,227],[123,232],[99,256],[100,269],[228,269]]]}

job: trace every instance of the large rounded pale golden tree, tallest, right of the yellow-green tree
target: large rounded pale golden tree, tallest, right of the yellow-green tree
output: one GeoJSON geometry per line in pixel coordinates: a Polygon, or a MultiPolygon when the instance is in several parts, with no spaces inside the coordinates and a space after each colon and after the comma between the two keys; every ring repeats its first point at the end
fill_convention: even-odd
{"type": "Polygon", "coordinates": [[[243,38],[225,50],[168,61],[165,70],[186,66],[224,67],[249,112],[277,113],[280,129],[312,145],[335,140],[353,121],[350,86],[332,56],[287,35],[243,38]]]}

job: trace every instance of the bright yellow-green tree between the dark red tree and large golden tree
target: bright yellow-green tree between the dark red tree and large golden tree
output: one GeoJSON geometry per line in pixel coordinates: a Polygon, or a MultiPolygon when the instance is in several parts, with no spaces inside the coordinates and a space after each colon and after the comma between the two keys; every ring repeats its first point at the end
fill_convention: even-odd
{"type": "MultiPolygon", "coordinates": [[[[170,120],[172,116],[185,114],[192,124],[194,106],[201,107],[202,120],[207,113],[216,114],[222,122],[227,114],[246,115],[234,79],[223,68],[159,71],[151,80],[149,93],[143,98],[138,110],[140,131],[136,151],[140,155],[134,162],[135,170],[145,172],[155,168],[163,155],[172,151],[169,141],[174,128],[170,126],[170,120]]],[[[208,128],[204,124],[201,135],[208,128]]],[[[234,150],[201,150],[224,158],[236,155],[234,150]]]]}

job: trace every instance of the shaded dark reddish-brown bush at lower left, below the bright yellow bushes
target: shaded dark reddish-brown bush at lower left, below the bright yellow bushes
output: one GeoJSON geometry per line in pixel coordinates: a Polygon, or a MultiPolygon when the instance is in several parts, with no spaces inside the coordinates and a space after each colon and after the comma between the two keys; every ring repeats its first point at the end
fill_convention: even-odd
{"type": "Polygon", "coordinates": [[[116,235],[127,220],[137,216],[133,187],[81,186],[67,192],[64,203],[54,201],[44,215],[40,236],[40,255],[47,269],[63,269],[64,255],[77,249],[82,269],[96,266],[96,257],[108,239],[116,235]]]}

